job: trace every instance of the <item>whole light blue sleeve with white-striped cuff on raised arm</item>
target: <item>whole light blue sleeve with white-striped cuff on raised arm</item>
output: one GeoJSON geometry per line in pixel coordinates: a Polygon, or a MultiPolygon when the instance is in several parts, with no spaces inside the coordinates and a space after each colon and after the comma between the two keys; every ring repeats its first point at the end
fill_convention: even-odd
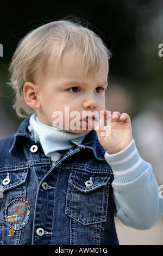
{"type": "Polygon", "coordinates": [[[114,172],[116,216],[129,227],[152,228],[163,214],[163,198],[152,166],[140,157],[134,139],[118,154],[106,152],[105,159],[114,172]]]}

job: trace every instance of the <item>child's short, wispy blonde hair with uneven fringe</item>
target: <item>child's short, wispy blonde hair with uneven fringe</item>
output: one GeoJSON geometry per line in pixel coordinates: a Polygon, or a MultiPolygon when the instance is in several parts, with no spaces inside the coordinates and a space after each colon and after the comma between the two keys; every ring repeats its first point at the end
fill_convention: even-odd
{"type": "Polygon", "coordinates": [[[85,74],[92,76],[97,74],[102,58],[109,60],[111,56],[102,39],[79,23],[54,21],[29,32],[19,42],[9,67],[9,84],[16,93],[13,107],[20,117],[27,117],[34,112],[24,101],[24,83],[33,82],[35,72],[41,65],[45,65],[56,42],[60,43],[58,61],[68,48],[72,48],[74,53],[82,50],[86,64],[85,74]]]}

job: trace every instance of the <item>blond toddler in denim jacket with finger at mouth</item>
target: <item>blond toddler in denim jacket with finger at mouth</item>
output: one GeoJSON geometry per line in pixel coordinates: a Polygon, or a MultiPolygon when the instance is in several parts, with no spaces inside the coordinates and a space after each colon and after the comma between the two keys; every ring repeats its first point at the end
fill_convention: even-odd
{"type": "Polygon", "coordinates": [[[69,21],[18,45],[11,85],[29,117],[0,142],[2,245],[118,245],[114,214],[136,229],[159,221],[162,198],[129,115],[105,109],[109,57],[69,21]]]}

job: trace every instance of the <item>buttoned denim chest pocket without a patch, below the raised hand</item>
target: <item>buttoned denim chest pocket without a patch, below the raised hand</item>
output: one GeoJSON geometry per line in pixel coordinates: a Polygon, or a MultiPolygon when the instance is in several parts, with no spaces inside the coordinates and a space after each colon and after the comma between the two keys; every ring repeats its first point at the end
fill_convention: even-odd
{"type": "Polygon", "coordinates": [[[67,216],[83,225],[106,221],[112,174],[72,170],[67,188],[67,216]]]}

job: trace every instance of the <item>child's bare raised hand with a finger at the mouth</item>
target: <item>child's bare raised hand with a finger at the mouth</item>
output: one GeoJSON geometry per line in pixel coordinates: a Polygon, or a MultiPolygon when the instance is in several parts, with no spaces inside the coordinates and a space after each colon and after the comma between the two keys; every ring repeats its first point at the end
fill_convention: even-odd
{"type": "Polygon", "coordinates": [[[109,154],[116,154],[127,148],[133,136],[131,129],[131,121],[128,114],[113,112],[112,115],[109,111],[104,109],[104,120],[100,119],[97,123],[95,120],[91,121],[93,130],[97,132],[98,140],[109,154]]]}

